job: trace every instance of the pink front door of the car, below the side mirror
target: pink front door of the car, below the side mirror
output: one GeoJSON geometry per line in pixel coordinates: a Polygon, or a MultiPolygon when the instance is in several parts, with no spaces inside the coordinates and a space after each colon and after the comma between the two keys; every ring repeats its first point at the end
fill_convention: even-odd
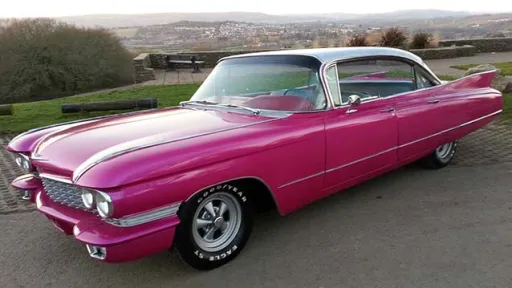
{"type": "MultiPolygon", "coordinates": [[[[367,63],[346,64],[337,65],[337,75],[353,77],[350,75],[354,69],[359,69],[360,74],[375,72],[366,65],[367,63]],[[356,67],[358,65],[359,67],[356,67]],[[346,70],[352,72],[347,73],[346,70]]],[[[329,72],[332,70],[329,70],[328,74],[329,72]]],[[[338,83],[348,83],[349,80],[343,81],[344,79],[341,79],[338,83]]],[[[364,97],[366,94],[362,94],[363,91],[344,91],[342,85],[338,83],[338,88],[329,85],[336,108],[327,112],[325,120],[325,190],[329,192],[383,171],[396,164],[397,160],[398,124],[393,99],[364,97]],[[351,107],[347,98],[341,97],[347,92],[363,96],[361,104],[351,107]]],[[[363,83],[362,87],[364,89],[367,86],[363,83]]]]}

